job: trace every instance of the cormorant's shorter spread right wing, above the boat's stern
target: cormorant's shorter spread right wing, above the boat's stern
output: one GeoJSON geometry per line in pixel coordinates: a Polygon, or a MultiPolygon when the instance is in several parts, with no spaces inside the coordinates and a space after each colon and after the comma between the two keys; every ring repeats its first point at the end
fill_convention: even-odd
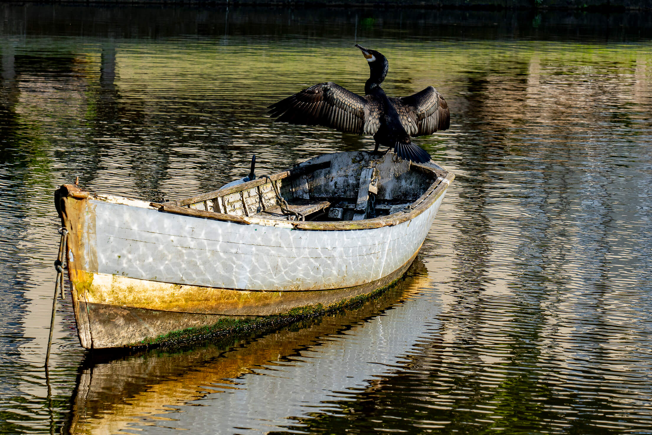
{"type": "Polygon", "coordinates": [[[425,136],[451,126],[448,104],[432,86],[409,97],[392,100],[401,123],[410,136],[425,136]]]}

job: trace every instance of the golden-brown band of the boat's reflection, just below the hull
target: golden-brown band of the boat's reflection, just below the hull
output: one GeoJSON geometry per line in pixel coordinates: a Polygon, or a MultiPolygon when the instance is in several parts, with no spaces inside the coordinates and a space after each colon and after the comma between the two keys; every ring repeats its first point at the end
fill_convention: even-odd
{"type": "MultiPolygon", "coordinates": [[[[68,427],[63,433],[113,434],[132,425],[166,426],[166,420],[171,423],[174,419],[165,414],[174,412],[175,406],[234,388],[235,378],[256,369],[275,363],[287,365],[289,357],[323,345],[329,341],[325,337],[342,335],[356,325],[374,321],[427,284],[428,273],[417,256],[396,286],[358,307],[292,323],[270,333],[230,337],[188,349],[122,353],[117,359],[108,353],[89,353],[78,374],[68,427]]],[[[405,331],[400,323],[396,328],[391,323],[389,330],[383,330],[383,339],[394,340],[397,347],[404,345],[405,331]]],[[[392,346],[389,344],[390,349],[392,346]]],[[[398,356],[401,351],[397,348],[396,352],[398,356]]],[[[333,371],[353,374],[357,365],[357,359],[342,359],[333,371]]]]}

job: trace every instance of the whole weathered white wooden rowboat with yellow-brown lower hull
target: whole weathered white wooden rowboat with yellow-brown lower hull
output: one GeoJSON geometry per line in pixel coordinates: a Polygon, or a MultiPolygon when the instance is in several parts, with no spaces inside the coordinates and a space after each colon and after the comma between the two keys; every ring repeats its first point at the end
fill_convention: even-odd
{"type": "Polygon", "coordinates": [[[166,342],[368,297],[408,269],[453,179],[349,152],[165,203],[63,185],[80,342],[166,342]]]}

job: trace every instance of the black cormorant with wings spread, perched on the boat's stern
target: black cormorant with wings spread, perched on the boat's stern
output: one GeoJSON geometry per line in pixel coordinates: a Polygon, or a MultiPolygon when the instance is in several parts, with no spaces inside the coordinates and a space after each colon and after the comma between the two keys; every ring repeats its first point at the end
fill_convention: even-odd
{"type": "MultiPolygon", "coordinates": [[[[378,146],[394,148],[394,153],[417,163],[430,160],[430,154],[410,141],[410,136],[424,136],[451,125],[451,114],[437,89],[426,87],[409,97],[385,95],[380,83],[385,80],[389,62],[376,50],[355,44],[369,63],[369,79],[364,97],[333,82],[319,83],[268,108],[276,122],[323,125],[341,132],[372,134],[378,146]]],[[[389,151],[389,150],[388,150],[389,151]]]]}

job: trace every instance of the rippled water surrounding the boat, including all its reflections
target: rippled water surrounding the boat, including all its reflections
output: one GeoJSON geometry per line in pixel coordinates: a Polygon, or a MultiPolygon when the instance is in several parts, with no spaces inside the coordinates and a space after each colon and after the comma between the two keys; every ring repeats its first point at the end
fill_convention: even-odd
{"type": "Polygon", "coordinates": [[[0,6],[0,432],[652,434],[646,14],[0,6]],[[80,348],[53,190],[181,198],[369,138],[272,124],[331,80],[434,85],[456,180],[397,288],[263,335],[80,348]],[[256,376],[258,375],[258,376],[256,376]]]}

